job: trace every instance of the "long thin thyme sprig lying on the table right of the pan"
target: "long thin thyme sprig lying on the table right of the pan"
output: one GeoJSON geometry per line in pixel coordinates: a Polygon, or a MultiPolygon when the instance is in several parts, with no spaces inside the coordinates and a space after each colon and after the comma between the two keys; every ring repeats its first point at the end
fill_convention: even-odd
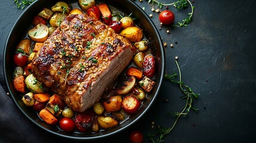
{"type": "Polygon", "coordinates": [[[183,99],[186,99],[186,104],[183,108],[183,110],[181,112],[175,112],[175,113],[170,113],[173,114],[174,117],[176,117],[175,122],[172,124],[171,127],[169,128],[157,128],[156,130],[156,135],[151,135],[149,134],[149,139],[150,141],[152,141],[153,143],[158,143],[158,142],[164,142],[164,138],[165,136],[170,133],[173,129],[174,126],[177,124],[178,119],[180,119],[180,117],[186,117],[187,114],[189,114],[190,110],[194,110],[196,111],[196,113],[198,113],[198,108],[193,107],[193,100],[194,98],[198,98],[199,94],[195,94],[195,92],[193,92],[193,90],[191,88],[189,88],[189,86],[187,86],[182,80],[181,80],[181,70],[180,70],[180,66],[178,65],[177,60],[175,60],[175,63],[178,67],[178,74],[180,75],[180,79],[177,81],[174,78],[178,76],[177,73],[173,72],[172,74],[166,74],[164,76],[164,78],[166,80],[171,81],[172,83],[177,83],[180,86],[180,90],[181,92],[184,94],[182,96],[183,99]],[[155,141],[155,138],[158,137],[158,139],[155,141]]]}

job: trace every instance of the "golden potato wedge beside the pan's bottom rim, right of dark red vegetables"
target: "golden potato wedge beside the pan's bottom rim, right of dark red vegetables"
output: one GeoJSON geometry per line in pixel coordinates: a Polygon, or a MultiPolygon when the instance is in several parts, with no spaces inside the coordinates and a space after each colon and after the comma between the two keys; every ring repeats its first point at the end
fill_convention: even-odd
{"type": "Polygon", "coordinates": [[[104,128],[104,129],[113,128],[118,125],[118,122],[112,117],[98,116],[97,120],[98,120],[98,125],[100,125],[101,128],[104,128]]]}

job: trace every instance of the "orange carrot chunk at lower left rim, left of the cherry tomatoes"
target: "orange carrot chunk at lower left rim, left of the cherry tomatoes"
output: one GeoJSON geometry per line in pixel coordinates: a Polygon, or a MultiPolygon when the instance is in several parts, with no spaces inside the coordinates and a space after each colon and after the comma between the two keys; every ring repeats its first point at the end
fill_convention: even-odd
{"type": "Polygon", "coordinates": [[[50,111],[48,111],[46,108],[39,112],[39,117],[41,117],[41,119],[49,125],[54,125],[58,122],[58,119],[54,117],[53,114],[51,114],[50,111]]]}

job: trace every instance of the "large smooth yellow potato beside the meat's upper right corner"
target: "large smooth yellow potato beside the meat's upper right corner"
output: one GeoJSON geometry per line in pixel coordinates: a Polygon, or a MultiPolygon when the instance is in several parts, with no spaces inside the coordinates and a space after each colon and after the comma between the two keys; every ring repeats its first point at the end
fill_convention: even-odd
{"type": "Polygon", "coordinates": [[[127,38],[130,42],[139,42],[143,37],[143,32],[138,27],[132,26],[122,30],[120,35],[127,38]]]}

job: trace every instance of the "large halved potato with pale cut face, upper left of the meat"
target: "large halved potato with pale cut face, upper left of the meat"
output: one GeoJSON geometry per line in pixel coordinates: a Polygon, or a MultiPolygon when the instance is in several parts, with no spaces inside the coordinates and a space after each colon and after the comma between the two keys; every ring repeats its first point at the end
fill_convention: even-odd
{"type": "Polygon", "coordinates": [[[37,26],[29,30],[29,38],[35,42],[44,42],[48,38],[48,27],[39,23],[37,26]]]}

